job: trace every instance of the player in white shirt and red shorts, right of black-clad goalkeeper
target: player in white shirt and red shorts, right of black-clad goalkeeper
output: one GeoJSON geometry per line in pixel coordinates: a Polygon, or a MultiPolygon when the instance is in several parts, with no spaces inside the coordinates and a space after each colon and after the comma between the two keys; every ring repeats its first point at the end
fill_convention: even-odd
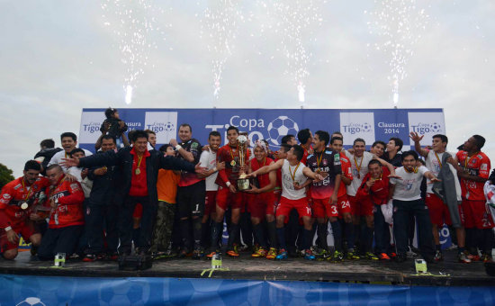
{"type": "Polygon", "coordinates": [[[225,167],[224,162],[217,161],[217,153],[220,148],[221,136],[216,130],[212,130],[208,135],[208,148],[203,150],[200,157],[200,163],[207,168],[204,174],[206,181],[206,197],[204,213],[202,215],[202,246],[206,247],[206,242],[210,235],[210,218],[215,219],[216,215],[216,197],[219,185],[215,183],[219,171],[225,167]]]}

